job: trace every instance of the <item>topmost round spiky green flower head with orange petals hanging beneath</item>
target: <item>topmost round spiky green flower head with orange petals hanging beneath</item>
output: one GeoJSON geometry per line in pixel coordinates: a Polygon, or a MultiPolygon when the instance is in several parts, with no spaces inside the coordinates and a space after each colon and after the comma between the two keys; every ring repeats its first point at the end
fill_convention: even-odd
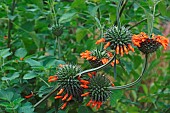
{"type": "Polygon", "coordinates": [[[105,33],[104,38],[101,38],[96,41],[96,44],[105,43],[104,49],[110,47],[112,50],[115,50],[116,54],[121,56],[124,53],[128,54],[129,51],[134,52],[134,48],[131,46],[131,32],[125,27],[113,26],[108,29],[105,33]]]}

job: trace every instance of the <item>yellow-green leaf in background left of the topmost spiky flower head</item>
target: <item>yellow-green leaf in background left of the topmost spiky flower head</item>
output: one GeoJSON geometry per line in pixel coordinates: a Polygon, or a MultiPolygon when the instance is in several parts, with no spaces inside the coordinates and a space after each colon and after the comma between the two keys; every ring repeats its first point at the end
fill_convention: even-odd
{"type": "Polygon", "coordinates": [[[85,28],[79,28],[76,30],[76,41],[80,42],[86,36],[87,30],[85,28]]]}

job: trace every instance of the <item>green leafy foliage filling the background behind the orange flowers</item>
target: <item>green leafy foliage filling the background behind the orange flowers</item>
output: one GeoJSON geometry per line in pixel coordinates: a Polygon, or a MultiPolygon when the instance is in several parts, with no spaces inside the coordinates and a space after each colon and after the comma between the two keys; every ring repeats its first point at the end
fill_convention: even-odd
{"type": "MultiPolygon", "coordinates": [[[[121,24],[131,27],[132,33],[162,35],[162,24],[170,21],[168,0],[124,0],[126,6],[121,24]]],[[[56,83],[48,83],[59,64],[79,64],[89,69],[80,53],[97,48],[95,41],[116,21],[118,0],[0,0],[0,112],[3,113],[53,113],[54,96],[37,108],[33,105],[48,94],[56,83]],[[13,4],[15,3],[16,4],[13,4]],[[14,6],[14,7],[13,7],[14,6]],[[63,29],[61,36],[52,34],[58,22],[63,29]],[[31,91],[34,96],[25,99],[31,91]]],[[[117,67],[116,85],[130,83],[142,70],[143,54],[125,55],[122,66],[117,67]]],[[[150,55],[149,67],[141,83],[126,90],[113,91],[110,102],[97,111],[86,107],[87,102],[67,106],[58,113],[168,113],[170,111],[170,51],[159,48],[150,55]]],[[[106,75],[113,76],[113,68],[106,68],[106,75]]]]}

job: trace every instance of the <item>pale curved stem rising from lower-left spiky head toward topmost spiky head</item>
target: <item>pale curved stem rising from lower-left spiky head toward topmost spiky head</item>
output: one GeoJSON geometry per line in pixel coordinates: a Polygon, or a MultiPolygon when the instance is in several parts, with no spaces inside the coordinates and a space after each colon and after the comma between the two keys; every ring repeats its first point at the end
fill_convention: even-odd
{"type": "Polygon", "coordinates": [[[105,68],[107,65],[109,65],[114,59],[115,59],[115,55],[114,55],[106,64],[101,65],[101,66],[96,67],[96,68],[92,68],[92,69],[88,69],[88,70],[82,71],[82,72],[80,72],[80,73],[77,73],[75,77],[77,77],[77,76],[82,76],[83,74],[86,74],[86,73],[89,73],[89,72],[94,72],[94,71],[103,69],[103,68],[105,68]]]}

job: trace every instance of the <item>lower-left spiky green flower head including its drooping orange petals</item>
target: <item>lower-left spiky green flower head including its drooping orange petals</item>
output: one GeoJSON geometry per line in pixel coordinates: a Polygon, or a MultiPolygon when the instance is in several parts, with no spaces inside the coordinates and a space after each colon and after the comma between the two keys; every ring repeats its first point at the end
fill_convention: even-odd
{"type": "Polygon", "coordinates": [[[66,64],[58,68],[55,76],[50,76],[48,81],[55,82],[57,80],[59,85],[59,92],[55,96],[55,99],[62,99],[63,105],[61,109],[64,109],[69,101],[76,100],[81,102],[83,88],[80,86],[81,82],[76,76],[81,72],[81,68],[76,65],[66,64]]]}

